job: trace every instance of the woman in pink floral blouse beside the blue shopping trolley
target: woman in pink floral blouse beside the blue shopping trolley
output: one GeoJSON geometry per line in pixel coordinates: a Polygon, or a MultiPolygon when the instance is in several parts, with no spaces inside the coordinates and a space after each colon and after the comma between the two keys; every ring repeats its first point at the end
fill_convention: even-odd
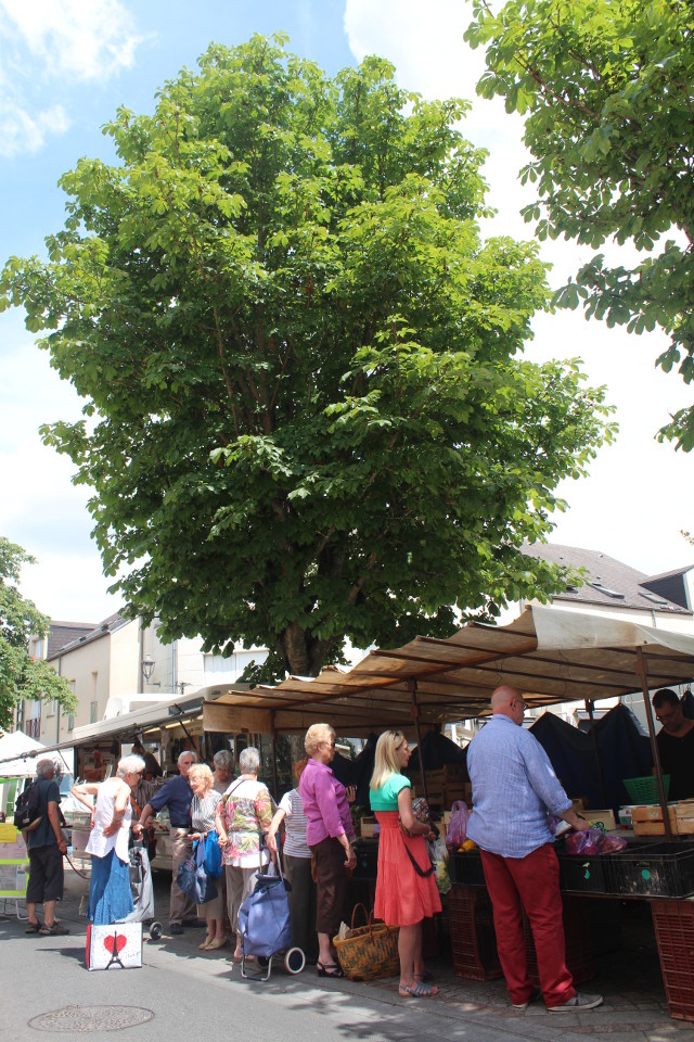
{"type": "Polygon", "coordinates": [[[242,960],[239,908],[253,891],[256,873],[270,860],[260,849],[260,837],[272,822],[274,804],[267,786],[258,782],[260,753],[253,746],[239,757],[241,777],[232,782],[217,804],[217,833],[227,873],[227,907],[231,928],[236,931],[234,962],[242,960]]]}

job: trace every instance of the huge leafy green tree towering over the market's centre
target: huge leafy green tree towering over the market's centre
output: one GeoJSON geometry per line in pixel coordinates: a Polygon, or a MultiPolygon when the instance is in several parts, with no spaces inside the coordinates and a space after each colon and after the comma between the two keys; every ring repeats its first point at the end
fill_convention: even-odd
{"type": "Polygon", "coordinates": [[[520,546],[608,410],[574,363],[520,356],[544,269],[480,241],[464,111],[378,59],[330,79],[279,37],[210,46],[106,128],[117,165],[64,176],[48,262],[8,262],[4,304],[88,399],[46,437],[165,639],[313,674],[346,636],[448,634],[556,585],[520,546]]]}

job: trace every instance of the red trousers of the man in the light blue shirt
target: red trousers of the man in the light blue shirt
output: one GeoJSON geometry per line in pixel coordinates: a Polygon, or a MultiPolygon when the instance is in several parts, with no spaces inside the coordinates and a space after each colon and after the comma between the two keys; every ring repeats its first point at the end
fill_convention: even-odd
{"type": "Polygon", "coordinates": [[[548,1008],[576,994],[566,968],[560,865],[551,843],[526,857],[502,857],[481,851],[487,889],[493,907],[499,961],[513,1003],[532,994],[523,938],[520,904],[525,907],[538,956],[540,988],[548,1008]]]}

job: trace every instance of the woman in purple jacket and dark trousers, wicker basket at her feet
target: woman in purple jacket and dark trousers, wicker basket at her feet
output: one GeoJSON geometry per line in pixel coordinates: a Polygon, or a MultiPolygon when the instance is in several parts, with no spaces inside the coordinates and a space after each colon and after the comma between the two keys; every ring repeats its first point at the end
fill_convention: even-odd
{"type": "Polygon", "coordinates": [[[332,940],[343,916],[347,872],[357,864],[351,849],[355,827],[345,786],[330,767],[335,757],[335,732],[329,724],[313,724],[304,741],[309,761],[299,782],[306,814],[306,841],[316,867],[316,931],[318,973],[342,977],[332,940]]]}

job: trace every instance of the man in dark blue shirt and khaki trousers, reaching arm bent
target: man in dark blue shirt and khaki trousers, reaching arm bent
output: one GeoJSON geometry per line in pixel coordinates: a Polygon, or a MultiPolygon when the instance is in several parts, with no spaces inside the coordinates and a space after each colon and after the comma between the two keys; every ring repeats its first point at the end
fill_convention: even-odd
{"type": "Polygon", "coordinates": [[[150,802],[142,808],[142,814],[138,825],[133,826],[133,833],[138,835],[142,829],[146,829],[150,818],[167,806],[169,811],[169,835],[171,837],[171,899],[169,904],[169,932],[182,933],[183,925],[192,925],[196,922],[197,914],[195,905],[179,887],[176,876],[179,865],[193,852],[193,841],[190,838],[191,830],[191,802],[193,800],[193,790],[188,780],[188,772],[197,762],[194,752],[185,751],[178,758],[178,768],[181,772],[174,778],[165,782],[151,798],[150,802]]]}

